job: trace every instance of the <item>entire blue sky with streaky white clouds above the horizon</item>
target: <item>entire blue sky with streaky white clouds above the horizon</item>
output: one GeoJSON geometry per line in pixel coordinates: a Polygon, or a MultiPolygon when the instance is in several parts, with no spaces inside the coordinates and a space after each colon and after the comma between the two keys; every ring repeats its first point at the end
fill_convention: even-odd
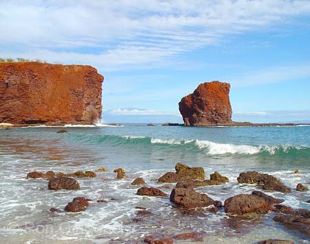
{"type": "Polygon", "coordinates": [[[220,80],[238,120],[310,119],[310,1],[0,0],[0,30],[1,57],[96,67],[110,114],[178,115],[220,80]]]}

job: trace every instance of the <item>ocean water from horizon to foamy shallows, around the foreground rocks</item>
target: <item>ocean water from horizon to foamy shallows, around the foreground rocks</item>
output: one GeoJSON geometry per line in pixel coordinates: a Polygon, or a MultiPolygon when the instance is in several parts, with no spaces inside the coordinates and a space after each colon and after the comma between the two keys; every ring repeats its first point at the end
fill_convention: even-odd
{"type": "Polygon", "coordinates": [[[309,192],[297,192],[296,185],[309,187],[310,126],[296,127],[209,127],[123,126],[16,128],[0,130],[0,243],[143,243],[147,234],[173,236],[202,232],[203,242],[255,243],[280,238],[310,243],[302,233],[273,221],[275,213],[232,218],[224,210],[211,213],[185,212],[169,198],[138,196],[136,177],[148,186],[169,194],[174,184],[158,183],[176,163],[204,168],[207,178],[214,171],[229,178],[223,185],[196,190],[224,202],[230,196],[251,193],[256,185],[239,184],[240,172],[256,170],[272,174],[293,190],[289,194],[264,191],[285,199],[284,205],[310,210],[309,192]],[[28,172],[71,173],[95,171],[96,178],[79,178],[81,190],[48,190],[45,179],[26,179],[28,172]],[[122,167],[127,179],[116,179],[114,169],[122,167]],[[294,174],[298,170],[299,174],[294,174]],[[85,212],[61,210],[76,196],[92,199],[85,212]],[[105,199],[107,203],[96,203],[105,199]],[[143,207],[152,212],[136,218],[143,207]]]}

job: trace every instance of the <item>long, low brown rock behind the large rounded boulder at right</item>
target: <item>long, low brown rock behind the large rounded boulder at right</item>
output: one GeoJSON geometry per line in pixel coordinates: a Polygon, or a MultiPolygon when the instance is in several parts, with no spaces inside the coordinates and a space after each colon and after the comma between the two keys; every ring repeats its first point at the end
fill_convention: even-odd
{"type": "Polygon", "coordinates": [[[249,183],[262,185],[264,190],[274,190],[277,192],[291,192],[291,189],[284,185],[276,177],[270,174],[260,174],[256,171],[248,171],[240,173],[238,183],[249,183]]]}

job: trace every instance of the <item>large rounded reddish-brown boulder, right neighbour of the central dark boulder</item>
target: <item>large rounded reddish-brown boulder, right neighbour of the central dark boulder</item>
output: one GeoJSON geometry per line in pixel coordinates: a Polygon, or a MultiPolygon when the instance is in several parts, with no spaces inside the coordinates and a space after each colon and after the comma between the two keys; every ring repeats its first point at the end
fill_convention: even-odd
{"type": "Polygon", "coordinates": [[[240,194],[225,200],[225,212],[230,214],[266,213],[271,204],[260,196],[240,194]]]}

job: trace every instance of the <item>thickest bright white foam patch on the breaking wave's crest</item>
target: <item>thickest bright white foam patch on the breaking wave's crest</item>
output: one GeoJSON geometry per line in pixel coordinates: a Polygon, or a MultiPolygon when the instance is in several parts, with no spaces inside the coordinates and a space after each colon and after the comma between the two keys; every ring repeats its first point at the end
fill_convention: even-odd
{"type": "Polygon", "coordinates": [[[198,148],[207,148],[208,154],[257,154],[260,148],[253,145],[235,145],[229,143],[214,143],[211,141],[196,140],[198,148]]]}

